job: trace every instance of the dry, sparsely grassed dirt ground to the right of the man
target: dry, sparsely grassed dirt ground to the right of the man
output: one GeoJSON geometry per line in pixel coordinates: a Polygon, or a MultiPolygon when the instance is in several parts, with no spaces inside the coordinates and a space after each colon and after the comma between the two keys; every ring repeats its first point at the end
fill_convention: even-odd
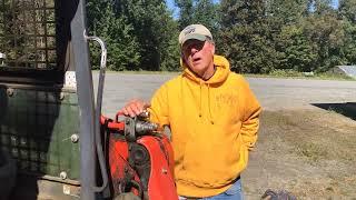
{"type": "Polygon", "coordinates": [[[297,199],[356,200],[356,121],[337,110],[264,111],[249,159],[241,176],[247,200],[267,189],[297,199]]]}

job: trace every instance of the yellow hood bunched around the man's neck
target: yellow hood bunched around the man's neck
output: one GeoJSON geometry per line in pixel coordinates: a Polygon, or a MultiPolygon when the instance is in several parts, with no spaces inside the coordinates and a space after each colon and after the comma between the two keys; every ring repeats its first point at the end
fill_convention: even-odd
{"type": "Polygon", "coordinates": [[[216,68],[216,71],[214,76],[206,81],[197,77],[194,72],[191,72],[191,70],[189,70],[188,66],[181,59],[180,59],[180,64],[184,69],[182,71],[184,76],[197,83],[201,83],[201,82],[207,84],[221,83],[227,79],[230,72],[229,62],[226,60],[226,58],[217,54],[214,56],[214,66],[216,68]]]}

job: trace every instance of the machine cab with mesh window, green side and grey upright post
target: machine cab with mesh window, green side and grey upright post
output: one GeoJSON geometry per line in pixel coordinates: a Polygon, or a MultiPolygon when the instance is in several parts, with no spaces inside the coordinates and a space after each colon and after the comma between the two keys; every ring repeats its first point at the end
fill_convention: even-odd
{"type": "Polygon", "coordinates": [[[0,199],[97,199],[83,0],[0,0],[0,199]]]}

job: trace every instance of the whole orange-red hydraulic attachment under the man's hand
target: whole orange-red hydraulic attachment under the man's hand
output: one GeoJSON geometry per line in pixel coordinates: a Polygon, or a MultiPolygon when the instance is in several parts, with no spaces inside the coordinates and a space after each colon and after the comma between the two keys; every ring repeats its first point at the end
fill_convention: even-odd
{"type": "Polygon", "coordinates": [[[115,120],[101,116],[100,122],[113,198],[130,194],[142,200],[177,200],[168,137],[145,118],[117,113],[115,120]]]}

